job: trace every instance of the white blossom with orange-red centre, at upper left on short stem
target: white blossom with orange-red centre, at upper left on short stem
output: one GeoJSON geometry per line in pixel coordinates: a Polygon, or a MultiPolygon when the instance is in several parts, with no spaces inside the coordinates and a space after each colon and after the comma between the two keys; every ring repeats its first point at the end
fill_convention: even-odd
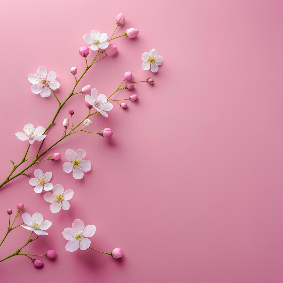
{"type": "Polygon", "coordinates": [[[40,93],[41,97],[48,97],[51,94],[51,90],[57,90],[60,86],[59,82],[55,80],[56,77],[57,75],[54,71],[49,72],[47,75],[46,67],[39,66],[37,68],[37,75],[30,74],[27,76],[29,82],[32,83],[30,90],[33,93],[40,93]]]}

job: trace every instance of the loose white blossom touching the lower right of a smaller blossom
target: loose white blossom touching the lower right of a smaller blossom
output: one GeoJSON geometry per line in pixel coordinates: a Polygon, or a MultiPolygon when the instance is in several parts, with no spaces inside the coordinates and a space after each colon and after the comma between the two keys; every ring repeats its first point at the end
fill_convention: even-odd
{"type": "Polygon", "coordinates": [[[61,210],[61,207],[64,210],[68,210],[70,208],[70,204],[68,200],[70,200],[73,195],[73,190],[66,190],[64,192],[64,188],[62,185],[57,184],[53,187],[53,193],[45,193],[43,195],[44,200],[47,202],[51,202],[50,210],[52,213],[57,213],[61,210]]]}

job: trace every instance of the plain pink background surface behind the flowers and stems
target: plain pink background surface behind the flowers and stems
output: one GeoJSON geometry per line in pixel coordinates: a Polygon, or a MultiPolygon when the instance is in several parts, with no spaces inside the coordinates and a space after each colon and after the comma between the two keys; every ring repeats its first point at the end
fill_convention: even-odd
{"type": "MultiPolygon", "coordinates": [[[[282,1],[2,1],[1,180],[27,147],[14,133],[26,123],[46,127],[57,107],[54,97],[31,93],[27,75],[39,65],[57,72],[64,100],[70,67],[85,66],[83,35],[111,35],[120,12],[126,23],[117,35],[135,27],[139,36],[115,40],[117,56],[101,60],[77,90],[90,83],[110,94],[128,70],[155,83],[121,91],[116,97],[139,96],[128,109],[93,117],[88,129],[110,127],[111,139],[72,135],[52,150],[60,161],[27,170],[51,171],[53,185],[73,189],[69,211],[52,214],[26,176],[1,189],[1,237],[7,209],[23,202],[53,222],[23,252],[58,253],[41,270],[21,256],[2,262],[1,282],[282,282],[282,1]],[[141,68],[152,48],[164,58],[156,74],[141,68]],[[62,170],[68,148],[92,162],[82,180],[62,170]],[[124,257],[66,252],[62,231],[76,218],[96,225],[92,247],[121,247],[124,257]]],[[[62,135],[70,107],[75,121],[87,113],[83,95],[70,99],[44,148],[62,135]]],[[[28,235],[11,232],[1,258],[28,235]]]]}

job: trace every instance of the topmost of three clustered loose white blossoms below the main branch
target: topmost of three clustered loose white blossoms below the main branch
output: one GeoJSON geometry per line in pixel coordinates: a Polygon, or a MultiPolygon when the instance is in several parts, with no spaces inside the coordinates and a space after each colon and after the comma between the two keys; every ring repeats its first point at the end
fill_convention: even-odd
{"type": "Polygon", "coordinates": [[[72,149],[67,149],[65,157],[71,162],[66,162],[63,164],[63,170],[66,173],[73,171],[73,177],[75,179],[83,178],[83,172],[90,171],[91,163],[89,160],[83,160],[85,158],[86,152],[82,149],[78,149],[76,152],[72,149]]]}

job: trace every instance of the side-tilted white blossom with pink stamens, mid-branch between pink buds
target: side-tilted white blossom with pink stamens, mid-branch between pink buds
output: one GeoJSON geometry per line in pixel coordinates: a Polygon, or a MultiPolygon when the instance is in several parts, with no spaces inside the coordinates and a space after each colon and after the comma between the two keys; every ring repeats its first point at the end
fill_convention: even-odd
{"type": "Polygon", "coordinates": [[[112,103],[107,101],[106,95],[102,93],[98,95],[95,87],[91,89],[90,95],[87,94],[85,96],[85,100],[105,117],[108,117],[105,111],[110,111],[113,108],[112,103]]]}

